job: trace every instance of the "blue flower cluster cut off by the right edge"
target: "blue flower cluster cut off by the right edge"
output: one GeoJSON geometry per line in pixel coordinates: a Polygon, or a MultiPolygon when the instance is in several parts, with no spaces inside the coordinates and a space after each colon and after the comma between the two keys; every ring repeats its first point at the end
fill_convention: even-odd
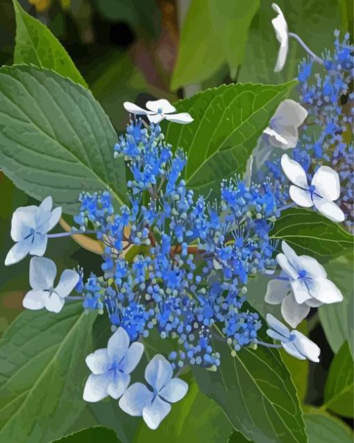
{"type": "MultiPolygon", "coordinates": [[[[354,46],[348,34],[340,41],[339,31],[335,31],[334,46],[333,51],[323,54],[323,66],[312,58],[299,64],[299,103],[307,109],[308,116],[298,146],[290,155],[309,173],[309,178],[322,164],[336,166],[342,186],[338,204],[346,214],[346,224],[353,229],[354,46]]],[[[280,159],[267,162],[267,167],[276,180],[283,182],[280,159]]]]}

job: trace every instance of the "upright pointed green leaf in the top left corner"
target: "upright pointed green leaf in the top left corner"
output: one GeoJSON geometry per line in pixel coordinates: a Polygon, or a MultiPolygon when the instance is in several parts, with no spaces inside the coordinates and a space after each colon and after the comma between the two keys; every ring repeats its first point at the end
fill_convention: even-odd
{"type": "Polygon", "coordinates": [[[13,0],[13,5],[16,16],[14,63],[34,64],[40,68],[53,69],[62,76],[87,87],[69,54],[47,26],[27,14],[17,0],[13,0]]]}

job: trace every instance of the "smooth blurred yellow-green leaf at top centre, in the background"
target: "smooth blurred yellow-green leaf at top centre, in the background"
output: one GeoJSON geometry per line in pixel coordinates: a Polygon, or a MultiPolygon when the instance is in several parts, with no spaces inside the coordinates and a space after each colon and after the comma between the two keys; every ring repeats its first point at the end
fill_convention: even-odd
{"type": "Polygon", "coordinates": [[[173,91],[206,80],[224,62],[219,40],[212,32],[212,15],[205,3],[205,0],[192,0],[189,5],[171,79],[173,91]]]}

